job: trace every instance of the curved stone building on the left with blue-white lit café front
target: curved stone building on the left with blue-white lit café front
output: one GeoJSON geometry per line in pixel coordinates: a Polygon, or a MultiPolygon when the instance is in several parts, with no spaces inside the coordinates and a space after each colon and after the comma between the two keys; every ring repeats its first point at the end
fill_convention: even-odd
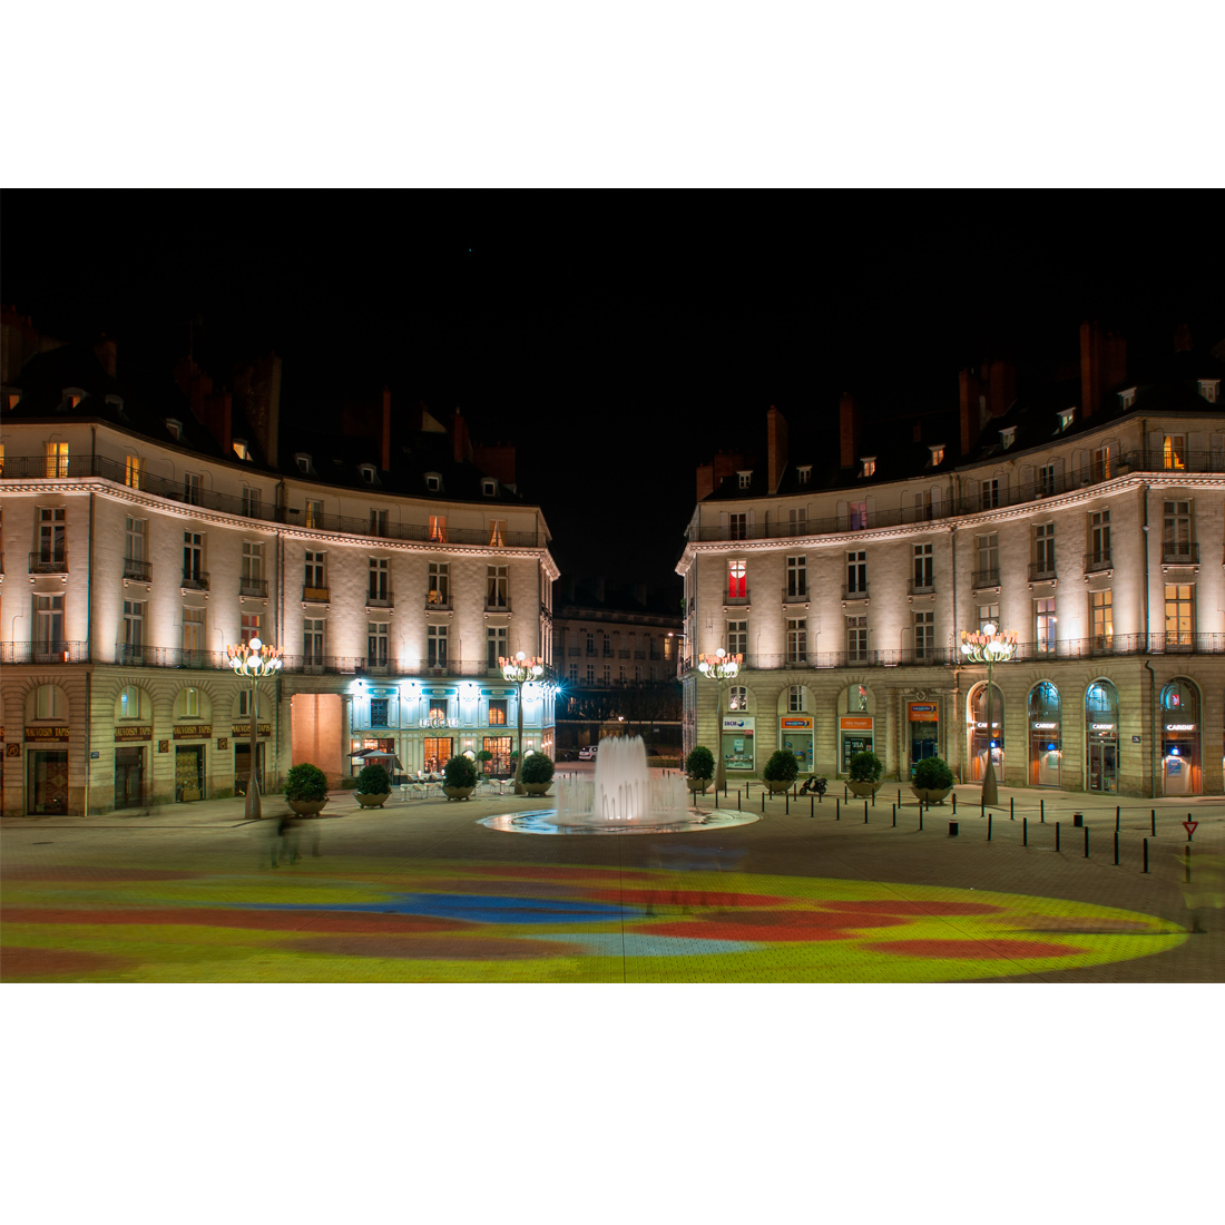
{"type": "MultiPolygon", "coordinates": [[[[151,397],[109,342],[42,344],[12,312],[5,342],[5,813],[243,789],[249,685],[224,648],[254,637],[284,652],[256,712],[266,789],[298,761],[336,784],[366,747],[409,772],[489,748],[508,771],[497,659],[543,657],[551,680],[557,577],[512,447],[387,392],[311,435],[281,412],[274,356],[232,391],[189,360],[151,397]]],[[[551,748],[552,713],[529,686],[526,747],[551,748]]]]}

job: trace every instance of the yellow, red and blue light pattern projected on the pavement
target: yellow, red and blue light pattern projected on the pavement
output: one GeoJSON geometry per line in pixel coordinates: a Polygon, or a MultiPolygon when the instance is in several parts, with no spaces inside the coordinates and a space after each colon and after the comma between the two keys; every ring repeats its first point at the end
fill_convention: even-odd
{"type": "Polygon", "coordinates": [[[713,871],[331,859],[5,873],[0,978],[948,981],[1101,965],[1186,930],[1018,894],[713,871]]]}

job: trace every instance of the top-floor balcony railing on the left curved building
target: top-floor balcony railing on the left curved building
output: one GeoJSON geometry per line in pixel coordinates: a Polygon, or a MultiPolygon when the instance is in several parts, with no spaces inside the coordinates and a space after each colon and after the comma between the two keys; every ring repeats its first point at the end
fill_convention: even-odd
{"type": "MultiPolygon", "coordinates": [[[[4,462],[2,479],[44,480],[50,475],[60,477],[102,477],[113,480],[116,485],[126,485],[127,467],[121,459],[108,459],[103,456],[71,456],[69,459],[58,461],[56,467],[49,473],[45,456],[6,456],[4,462]]],[[[251,505],[235,494],[218,494],[211,489],[186,489],[181,480],[170,480],[165,477],[157,477],[149,472],[140,475],[140,488],[146,494],[157,497],[165,497],[175,502],[185,502],[189,506],[201,506],[212,511],[224,511],[229,514],[241,516],[247,519],[262,519],[266,523],[289,523],[301,527],[306,523],[305,508],[296,506],[273,506],[258,502],[251,505]]],[[[344,514],[316,514],[310,519],[310,527],[323,532],[339,532],[345,535],[370,537],[369,518],[358,518],[344,514]]],[[[388,523],[386,529],[379,527],[380,538],[392,540],[429,540],[430,529],[428,523],[388,523]]],[[[491,546],[491,528],[447,528],[448,544],[477,544],[486,549],[491,546]]],[[[538,532],[499,532],[500,548],[508,549],[543,549],[548,543],[538,532]]]]}

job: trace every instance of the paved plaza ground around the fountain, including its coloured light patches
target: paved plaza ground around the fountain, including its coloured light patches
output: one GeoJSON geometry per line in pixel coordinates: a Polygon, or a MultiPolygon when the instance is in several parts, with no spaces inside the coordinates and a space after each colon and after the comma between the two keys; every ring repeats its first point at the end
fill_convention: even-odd
{"type": "MultiPolygon", "coordinates": [[[[739,797],[760,817],[751,824],[528,835],[478,821],[538,810],[539,800],[396,795],[363,810],[338,791],[326,818],[304,827],[298,861],[277,867],[270,833],[285,811],[279,796],[265,799],[257,826],[244,820],[241,799],[4,818],[0,979],[1225,978],[1225,799],[1001,789],[987,840],[978,789],[957,796],[956,838],[951,802],[927,810],[920,831],[909,789],[894,826],[895,783],[883,785],[866,822],[864,802],[843,801],[840,786],[820,804],[767,800],[762,815],[761,788],[751,785],[739,797]],[[1088,858],[1076,811],[1089,828],[1088,858]],[[1199,822],[1191,884],[1188,813],[1199,822]]],[[[736,804],[735,790],[719,797],[720,807],[736,804]]]]}

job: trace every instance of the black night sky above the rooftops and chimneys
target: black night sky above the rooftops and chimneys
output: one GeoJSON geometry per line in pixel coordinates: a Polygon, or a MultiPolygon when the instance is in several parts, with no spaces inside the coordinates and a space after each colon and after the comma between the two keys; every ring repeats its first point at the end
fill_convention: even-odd
{"type": "Polygon", "coordinates": [[[2,298],[119,376],[194,336],[227,365],[274,349],[282,414],[345,391],[459,405],[518,447],[564,571],[668,582],[693,468],[827,446],[838,396],[949,409],[957,372],[1077,360],[1085,317],[1136,363],[1225,336],[1209,195],[464,195],[7,192],[2,298]],[[1109,207],[1107,207],[1109,205],[1109,207]],[[192,328],[192,321],[201,320],[192,328]]]}

